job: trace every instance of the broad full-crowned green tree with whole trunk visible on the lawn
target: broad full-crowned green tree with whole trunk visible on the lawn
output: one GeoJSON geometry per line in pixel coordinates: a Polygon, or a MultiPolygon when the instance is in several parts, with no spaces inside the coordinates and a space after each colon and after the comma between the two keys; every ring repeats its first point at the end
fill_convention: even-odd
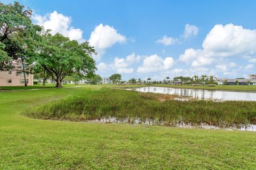
{"type": "Polygon", "coordinates": [[[97,53],[88,42],[78,44],[59,33],[54,36],[45,33],[38,54],[31,61],[44,67],[60,88],[62,80],[71,73],[92,77],[97,69],[92,54],[97,53]]]}

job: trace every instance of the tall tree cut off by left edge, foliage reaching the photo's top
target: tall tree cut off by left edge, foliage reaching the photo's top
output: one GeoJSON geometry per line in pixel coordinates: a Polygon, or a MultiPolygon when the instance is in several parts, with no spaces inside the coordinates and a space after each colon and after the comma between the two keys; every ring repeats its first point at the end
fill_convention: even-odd
{"type": "Polygon", "coordinates": [[[24,63],[25,52],[26,57],[29,56],[28,49],[31,47],[31,42],[35,37],[38,38],[37,32],[41,29],[31,23],[31,15],[32,11],[18,2],[7,5],[0,3],[0,43],[6,46],[2,50],[9,56],[7,60],[0,57],[0,71],[12,69],[10,60],[21,58],[24,63]]]}

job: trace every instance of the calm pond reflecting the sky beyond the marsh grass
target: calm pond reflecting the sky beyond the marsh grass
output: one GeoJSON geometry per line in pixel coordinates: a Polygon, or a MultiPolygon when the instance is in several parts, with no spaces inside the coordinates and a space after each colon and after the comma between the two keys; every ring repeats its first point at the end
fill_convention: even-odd
{"type": "Polygon", "coordinates": [[[205,89],[182,89],[182,88],[167,88],[167,87],[137,87],[127,90],[135,90],[140,92],[154,92],[158,94],[170,94],[192,97],[202,100],[242,100],[256,101],[256,92],[250,91],[225,91],[225,90],[205,90],[205,89]]]}

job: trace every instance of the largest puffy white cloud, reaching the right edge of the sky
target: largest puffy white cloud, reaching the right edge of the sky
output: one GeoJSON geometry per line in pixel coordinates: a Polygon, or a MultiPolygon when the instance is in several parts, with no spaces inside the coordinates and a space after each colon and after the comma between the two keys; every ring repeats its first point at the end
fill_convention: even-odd
{"type": "Polygon", "coordinates": [[[206,66],[217,62],[217,58],[245,56],[256,53],[256,30],[244,29],[233,24],[217,24],[208,33],[203,49],[189,48],[179,57],[191,66],[206,66]]]}

